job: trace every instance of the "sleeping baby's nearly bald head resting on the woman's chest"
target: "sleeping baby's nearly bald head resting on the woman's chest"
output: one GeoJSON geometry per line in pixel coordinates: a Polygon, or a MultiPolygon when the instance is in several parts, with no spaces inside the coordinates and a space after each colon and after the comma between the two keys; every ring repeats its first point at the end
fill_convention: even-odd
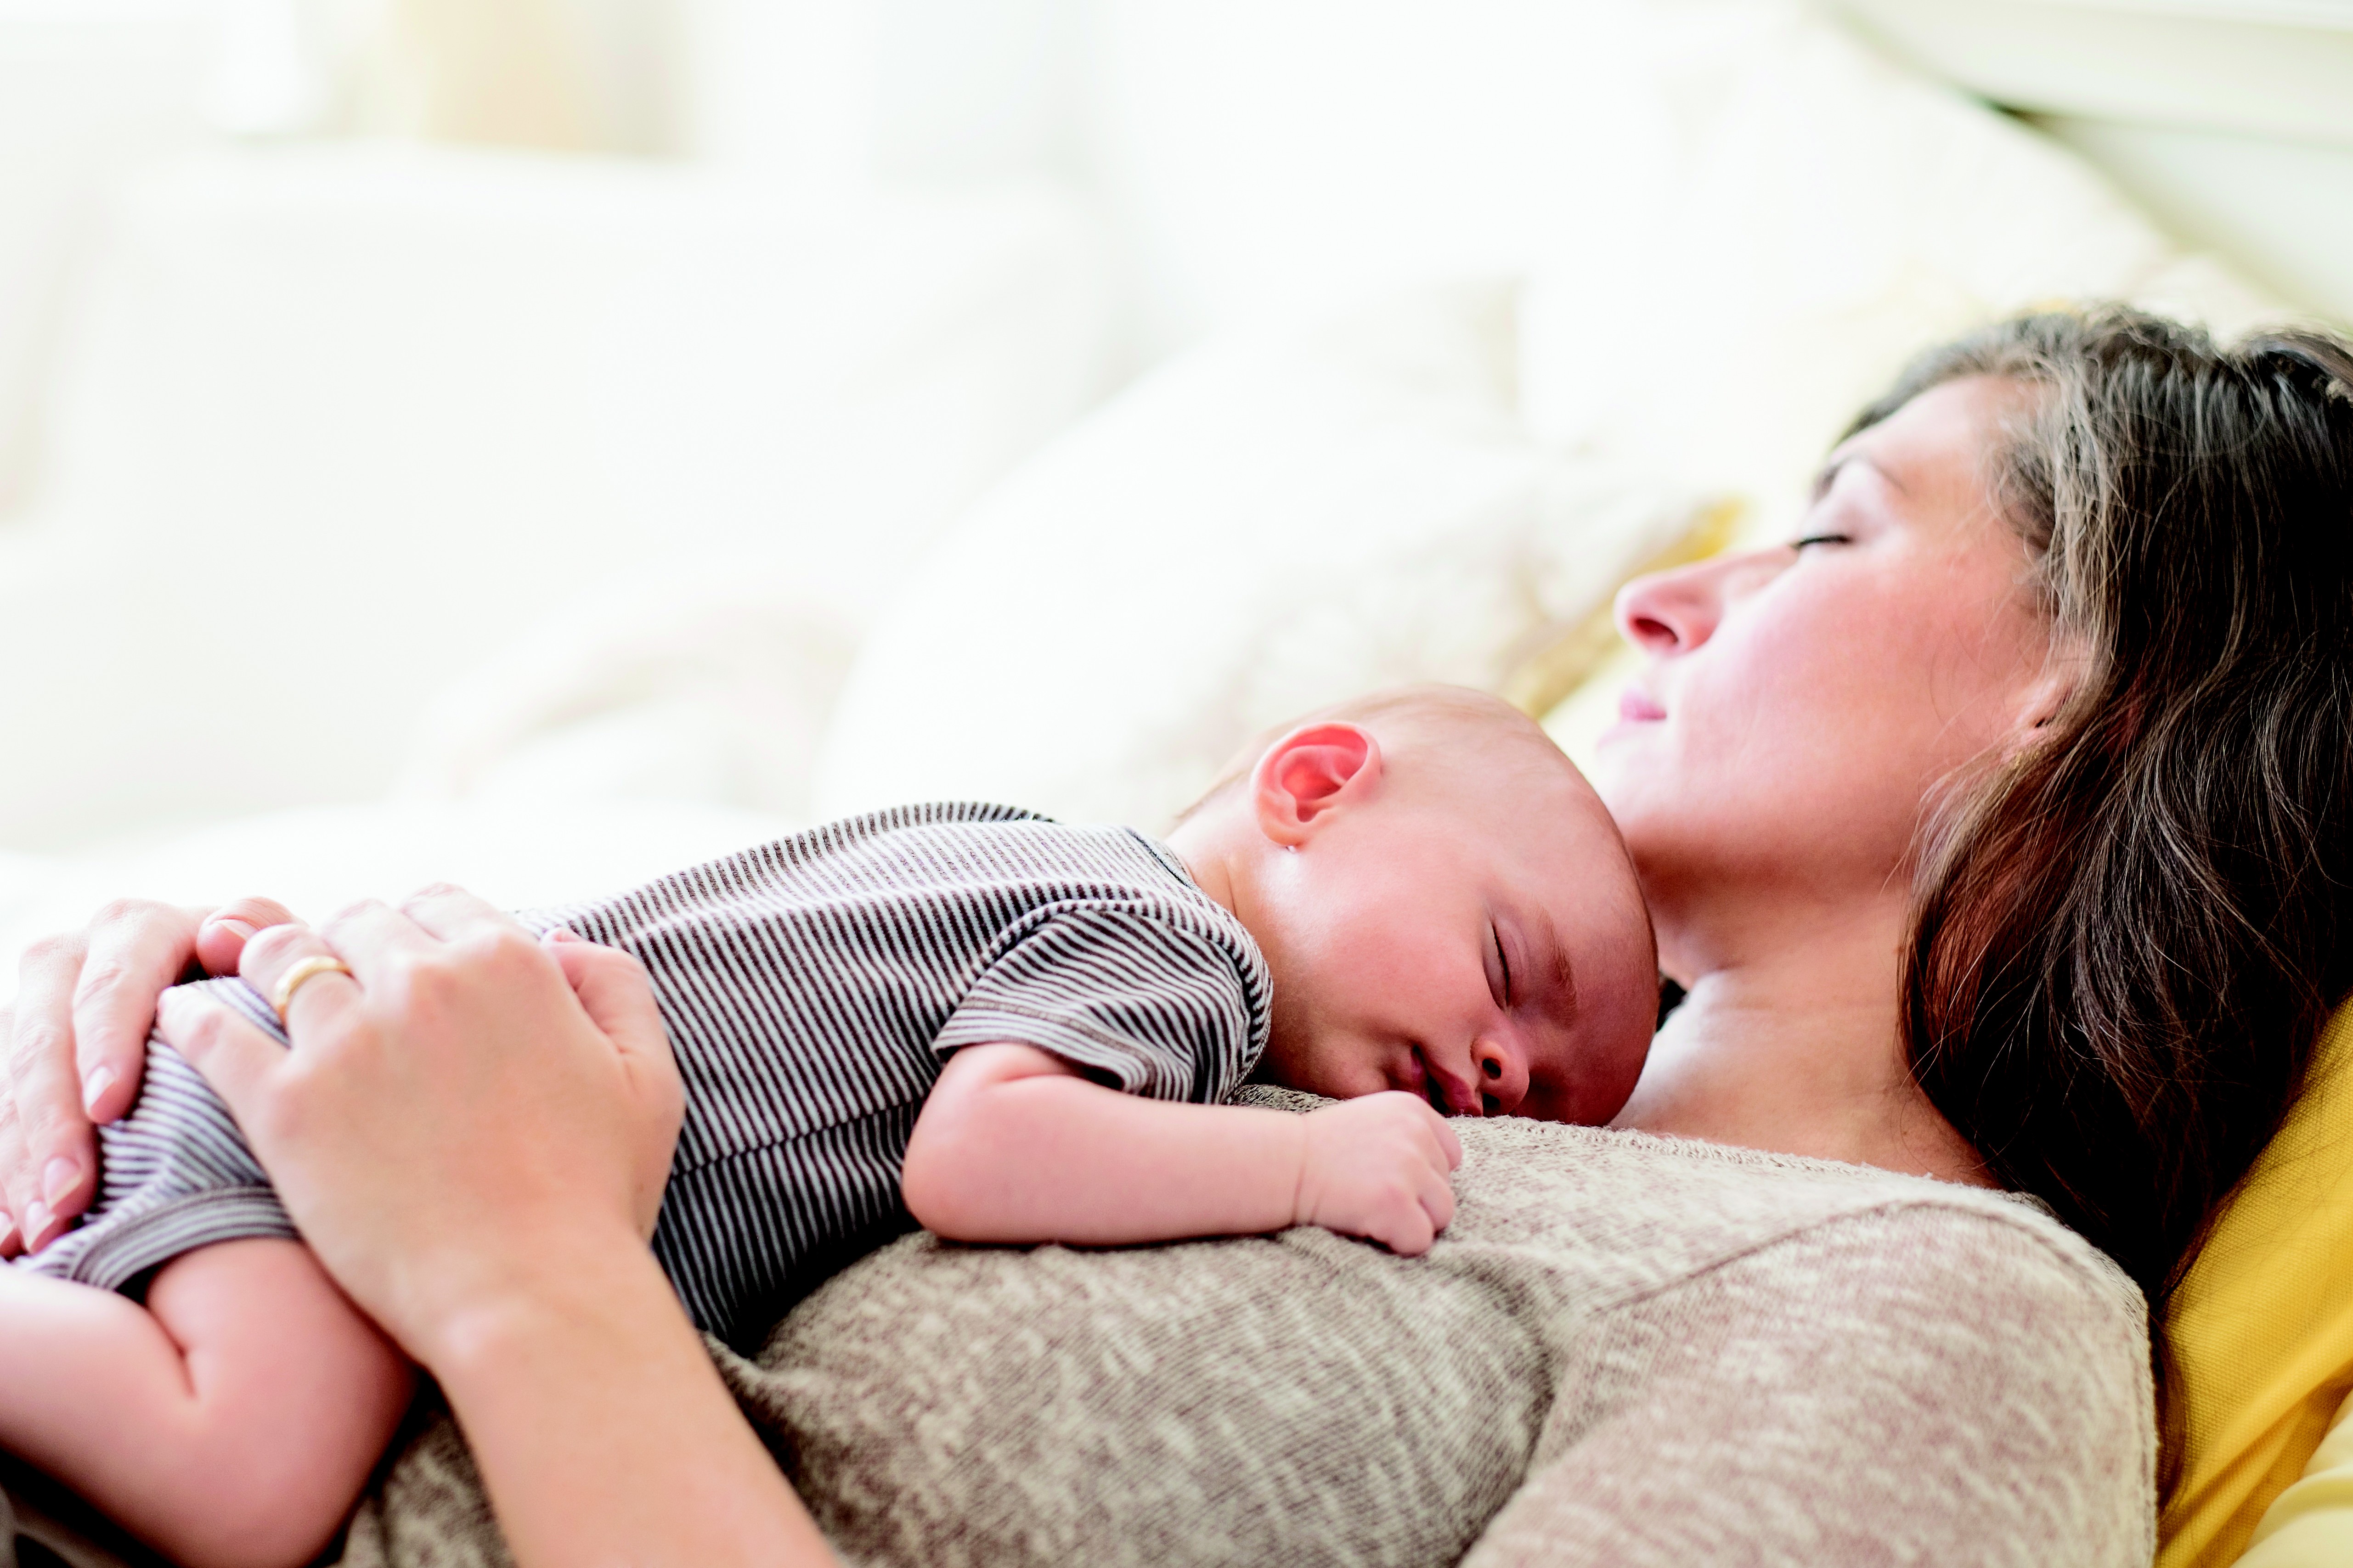
{"type": "Polygon", "coordinates": [[[1508,703],[1381,691],[1257,743],[1172,835],[1273,971],[1261,1074],[1607,1121],[1659,1016],[1609,811],[1508,703]]]}

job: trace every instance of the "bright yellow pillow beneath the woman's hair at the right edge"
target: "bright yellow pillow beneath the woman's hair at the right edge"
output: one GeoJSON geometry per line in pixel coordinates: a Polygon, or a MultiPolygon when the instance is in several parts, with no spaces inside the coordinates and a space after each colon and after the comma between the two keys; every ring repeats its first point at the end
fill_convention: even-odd
{"type": "MultiPolygon", "coordinates": [[[[2287,1124],[2174,1293],[2172,1335],[2184,1472],[2160,1526],[2158,1568],[2233,1563],[2353,1392],[2353,1004],[2329,1018],[2287,1124]]],[[[2339,1493],[2353,1486],[2311,1488],[2315,1507],[2339,1493]]],[[[2344,1528],[2353,1533],[2353,1516],[2344,1528]]],[[[2289,1549],[2292,1537],[2327,1535],[2306,1514],[2297,1530],[2266,1540],[2257,1561],[2348,1561],[2289,1549]]]]}

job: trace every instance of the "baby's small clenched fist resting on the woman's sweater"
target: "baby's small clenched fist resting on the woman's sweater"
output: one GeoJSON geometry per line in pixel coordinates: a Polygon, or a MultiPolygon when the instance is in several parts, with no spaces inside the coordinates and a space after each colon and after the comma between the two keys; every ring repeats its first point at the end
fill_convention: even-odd
{"type": "Polygon", "coordinates": [[[1464,1145],[1428,1100],[1405,1091],[1341,1100],[1306,1117],[1292,1225],[1372,1237],[1402,1258],[1431,1251],[1454,1218],[1447,1171],[1464,1145]]]}

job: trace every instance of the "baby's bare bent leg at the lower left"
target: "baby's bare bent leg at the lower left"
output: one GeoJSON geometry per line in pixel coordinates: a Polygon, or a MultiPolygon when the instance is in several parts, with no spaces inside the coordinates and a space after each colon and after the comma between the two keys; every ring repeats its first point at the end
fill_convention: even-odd
{"type": "Polygon", "coordinates": [[[409,1387],[296,1241],[174,1258],[146,1307],[0,1267],[0,1446],[188,1568],[308,1563],[409,1387]]]}

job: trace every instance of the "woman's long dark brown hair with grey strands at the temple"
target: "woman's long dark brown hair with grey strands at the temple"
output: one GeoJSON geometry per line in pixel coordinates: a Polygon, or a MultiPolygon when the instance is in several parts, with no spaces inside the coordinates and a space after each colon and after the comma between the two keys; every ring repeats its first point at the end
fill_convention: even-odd
{"type": "Polygon", "coordinates": [[[1927,825],[1906,1051],[2141,1286],[2162,1382],[2167,1298],[2353,990],[2353,346],[2031,315],[1857,428],[1955,376],[2038,393],[1988,480],[2080,675],[1927,825]]]}

